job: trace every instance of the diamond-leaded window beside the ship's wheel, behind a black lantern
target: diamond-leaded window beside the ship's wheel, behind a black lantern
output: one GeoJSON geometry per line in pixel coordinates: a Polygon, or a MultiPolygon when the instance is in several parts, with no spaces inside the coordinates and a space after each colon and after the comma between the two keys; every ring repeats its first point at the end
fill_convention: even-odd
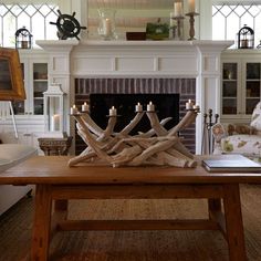
{"type": "Polygon", "coordinates": [[[15,31],[25,27],[35,40],[56,39],[56,4],[0,4],[0,45],[15,46],[15,31]]]}

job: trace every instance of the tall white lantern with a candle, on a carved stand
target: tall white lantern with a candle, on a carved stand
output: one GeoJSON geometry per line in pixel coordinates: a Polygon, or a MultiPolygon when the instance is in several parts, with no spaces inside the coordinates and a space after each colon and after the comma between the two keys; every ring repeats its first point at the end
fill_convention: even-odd
{"type": "Polygon", "coordinates": [[[51,136],[63,136],[64,132],[64,95],[61,84],[51,84],[43,93],[44,130],[51,136]]]}

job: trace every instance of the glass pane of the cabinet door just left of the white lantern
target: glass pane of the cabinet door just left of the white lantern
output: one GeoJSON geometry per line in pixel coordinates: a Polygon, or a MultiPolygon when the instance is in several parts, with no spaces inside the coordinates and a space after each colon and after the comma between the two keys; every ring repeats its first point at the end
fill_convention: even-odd
{"type": "Polygon", "coordinates": [[[43,93],[48,90],[48,64],[33,63],[33,114],[43,115],[43,93]]]}

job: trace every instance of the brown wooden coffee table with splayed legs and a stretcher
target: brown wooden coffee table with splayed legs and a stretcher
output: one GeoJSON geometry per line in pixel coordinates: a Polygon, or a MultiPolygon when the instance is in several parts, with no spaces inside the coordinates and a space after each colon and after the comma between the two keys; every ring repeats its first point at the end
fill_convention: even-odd
{"type": "Polygon", "coordinates": [[[210,174],[201,166],[67,167],[69,157],[34,157],[0,175],[0,184],[36,185],[31,260],[46,261],[56,230],[220,230],[231,261],[247,260],[239,184],[261,174],[210,174]],[[200,220],[67,220],[69,199],[207,198],[200,220]],[[221,200],[223,211],[221,211],[221,200]],[[54,212],[52,213],[52,203],[54,212]]]}

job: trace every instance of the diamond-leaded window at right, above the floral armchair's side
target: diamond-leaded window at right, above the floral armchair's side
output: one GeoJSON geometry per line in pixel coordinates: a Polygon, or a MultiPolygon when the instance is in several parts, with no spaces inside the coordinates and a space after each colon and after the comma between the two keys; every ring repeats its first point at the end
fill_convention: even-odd
{"type": "Polygon", "coordinates": [[[244,24],[254,31],[254,46],[261,40],[261,4],[213,4],[212,39],[236,40],[244,24]]]}

